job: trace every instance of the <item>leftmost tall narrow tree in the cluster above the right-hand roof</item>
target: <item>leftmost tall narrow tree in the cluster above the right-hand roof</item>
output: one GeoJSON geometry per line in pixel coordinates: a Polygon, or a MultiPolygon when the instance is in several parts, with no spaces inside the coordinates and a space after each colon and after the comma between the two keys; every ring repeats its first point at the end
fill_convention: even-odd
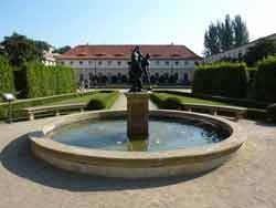
{"type": "Polygon", "coordinates": [[[205,55],[213,55],[220,53],[220,38],[217,27],[212,22],[209,25],[209,30],[205,31],[204,34],[204,46],[205,46],[205,55]]]}

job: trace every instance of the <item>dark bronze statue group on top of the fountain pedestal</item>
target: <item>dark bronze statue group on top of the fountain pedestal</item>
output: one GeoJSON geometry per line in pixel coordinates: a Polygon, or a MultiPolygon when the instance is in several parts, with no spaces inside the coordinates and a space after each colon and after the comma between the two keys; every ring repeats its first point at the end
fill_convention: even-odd
{"type": "Polygon", "coordinates": [[[151,90],[149,59],[150,55],[148,53],[144,56],[142,53],[140,52],[139,46],[135,46],[135,49],[131,52],[131,61],[130,61],[129,77],[130,77],[130,83],[132,85],[129,92],[145,91],[145,89],[142,87],[142,76],[145,76],[145,80],[149,85],[148,90],[151,90]]]}

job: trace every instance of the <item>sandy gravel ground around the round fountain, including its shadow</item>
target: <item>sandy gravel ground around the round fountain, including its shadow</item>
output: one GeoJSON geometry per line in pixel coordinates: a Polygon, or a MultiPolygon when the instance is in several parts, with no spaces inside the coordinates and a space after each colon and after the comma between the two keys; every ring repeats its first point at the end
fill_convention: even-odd
{"type": "Polygon", "coordinates": [[[72,174],[34,159],[25,134],[54,119],[0,124],[0,208],[276,207],[276,126],[240,121],[247,143],[205,175],[123,180],[72,174]]]}

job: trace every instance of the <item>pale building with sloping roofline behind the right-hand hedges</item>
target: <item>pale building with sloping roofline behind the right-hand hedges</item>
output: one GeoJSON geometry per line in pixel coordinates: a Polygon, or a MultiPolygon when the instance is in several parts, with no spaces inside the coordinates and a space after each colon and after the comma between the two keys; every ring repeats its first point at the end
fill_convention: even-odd
{"type": "Polygon", "coordinates": [[[204,63],[213,63],[213,62],[217,62],[222,59],[240,59],[243,55],[245,55],[247,50],[250,48],[254,46],[259,40],[275,40],[276,41],[276,33],[257,39],[255,41],[248,42],[248,43],[243,44],[241,46],[224,51],[222,53],[206,56],[203,62],[204,63]]]}

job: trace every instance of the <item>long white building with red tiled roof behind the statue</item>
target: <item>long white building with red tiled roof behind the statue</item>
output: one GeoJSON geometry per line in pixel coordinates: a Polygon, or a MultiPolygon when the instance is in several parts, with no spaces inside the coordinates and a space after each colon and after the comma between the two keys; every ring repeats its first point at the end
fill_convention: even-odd
{"type": "MultiPolygon", "coordinates": [[[[184,45],[139,45],[150,54],[153,84],[189,84],[201,58],[184,45]]],[[[79,84],[125,84],[135,45],[78,45],[56,58],[57,64],[75,69],[79,84]]]]}

